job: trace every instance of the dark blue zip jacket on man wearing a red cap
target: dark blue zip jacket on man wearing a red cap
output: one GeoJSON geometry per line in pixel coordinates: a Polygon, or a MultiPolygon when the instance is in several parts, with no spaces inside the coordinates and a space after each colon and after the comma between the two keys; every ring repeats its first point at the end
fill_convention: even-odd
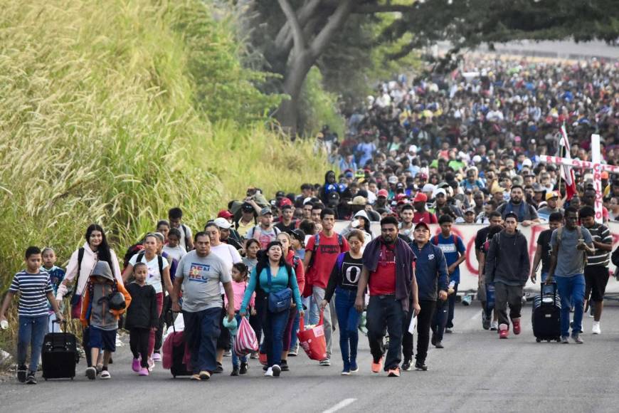
{"type": "Polygon", "coordinates": [[[438,246],[426,243],[419,249],[416,242],[409,244],[417,256],[415,276],[419,300],[436,301],[438,291],[447,291],[449,275],[445,255],[438,246]]]}

